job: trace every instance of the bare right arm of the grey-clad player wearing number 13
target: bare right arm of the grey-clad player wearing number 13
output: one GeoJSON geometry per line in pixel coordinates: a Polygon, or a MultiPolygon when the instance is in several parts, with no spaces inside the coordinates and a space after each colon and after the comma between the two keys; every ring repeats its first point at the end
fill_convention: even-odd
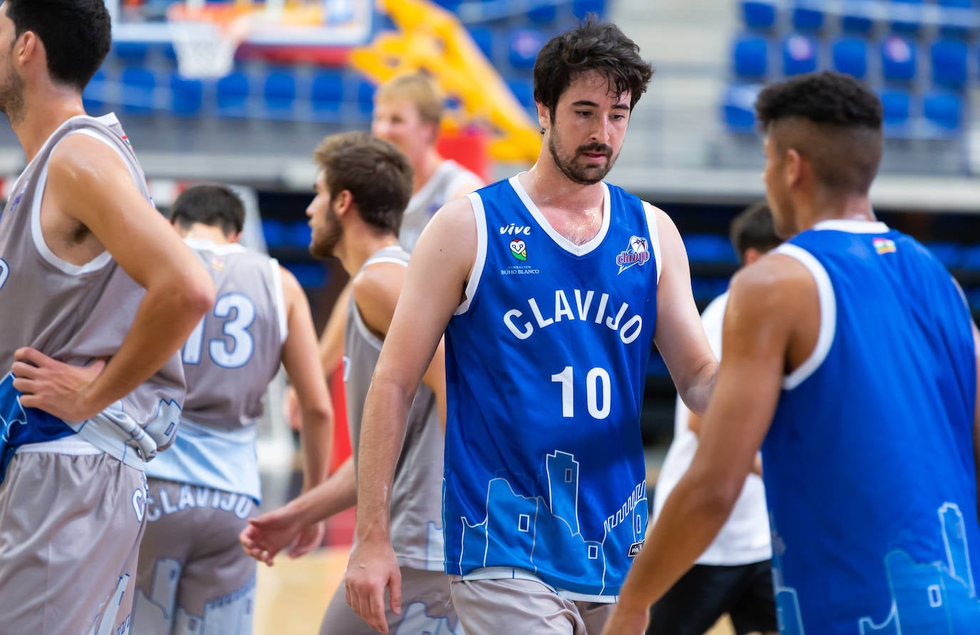
{"type": "MultiPolygon", "coordinates": [[[[326,477],[333,442],[333,408],[316,354],[317,331],[309,301],[296,277],[286,269],[280,271],[289,329],[282,346],[282,365],[296,391],[302,414],[303,491],[307,492],[326,477]]],[[[311,544],[300,546],[300,551],[315,547],[312,543],[318,538],[319,535],[309,536],[311,544]]]]}

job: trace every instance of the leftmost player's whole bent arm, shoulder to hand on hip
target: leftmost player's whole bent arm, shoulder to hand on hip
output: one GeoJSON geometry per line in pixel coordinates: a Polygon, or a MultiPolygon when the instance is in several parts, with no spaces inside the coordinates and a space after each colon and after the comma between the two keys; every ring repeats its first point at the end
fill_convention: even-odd
{"type": "Polygon", "coordinates": [[[164,366],[211,308],[215,287],[136,188],[116,151],[86,135],[67,137],[52,153],[41,228],[45,243],[62,260],[82,264],[108,251],[146,289],[118,353],[93,377],[79,381],[81,371],[32,349],[16,353],[20,385],[15,386],[25,394],[22,404],[80,421],[164,366]]]}

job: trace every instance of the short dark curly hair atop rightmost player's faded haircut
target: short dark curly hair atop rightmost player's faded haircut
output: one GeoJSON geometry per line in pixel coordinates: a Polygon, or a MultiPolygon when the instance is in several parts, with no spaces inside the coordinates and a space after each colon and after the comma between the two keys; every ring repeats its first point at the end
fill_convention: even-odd
{"type": "Polygon", "coordinates": [[[790,117],[844,127],[881,128],[881,100],[851,75],[823,71],[769,84],[756,100],[763,128],[790,117]]]}

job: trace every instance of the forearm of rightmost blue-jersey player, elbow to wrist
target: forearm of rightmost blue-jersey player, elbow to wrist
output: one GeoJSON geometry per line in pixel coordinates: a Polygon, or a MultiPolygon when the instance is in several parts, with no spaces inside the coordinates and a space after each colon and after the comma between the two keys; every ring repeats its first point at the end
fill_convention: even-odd
{"type": "Polygon", "coordinates": [[[732,490],[691,471],[681,478],[630,567],[620,605],[646,611],[662,598],[711,545],[735,504],[738,492],[732,490]]]}

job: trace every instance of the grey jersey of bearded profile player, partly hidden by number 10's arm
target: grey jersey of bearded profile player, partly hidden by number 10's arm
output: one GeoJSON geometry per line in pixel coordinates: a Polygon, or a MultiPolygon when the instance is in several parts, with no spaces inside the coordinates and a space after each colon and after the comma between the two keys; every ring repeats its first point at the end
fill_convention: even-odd
{"type": "MultiPolygon", "coordinates": [[[[380,263],[406,266],[409,254],[400,247],[386,247],[371,256],[364,267],[380,263]]],[[[344,332],[344,381],[355,467],[365,397],[381,344],[382,340],[362,319],[357,303],[351,302],[344,332]]],[[[420,385],[409,412],[405,445],[395,467],[391,494],[391,544],[402,566],[443,570],[442,454],[442,424],[435,395],[420,385]]]]}

